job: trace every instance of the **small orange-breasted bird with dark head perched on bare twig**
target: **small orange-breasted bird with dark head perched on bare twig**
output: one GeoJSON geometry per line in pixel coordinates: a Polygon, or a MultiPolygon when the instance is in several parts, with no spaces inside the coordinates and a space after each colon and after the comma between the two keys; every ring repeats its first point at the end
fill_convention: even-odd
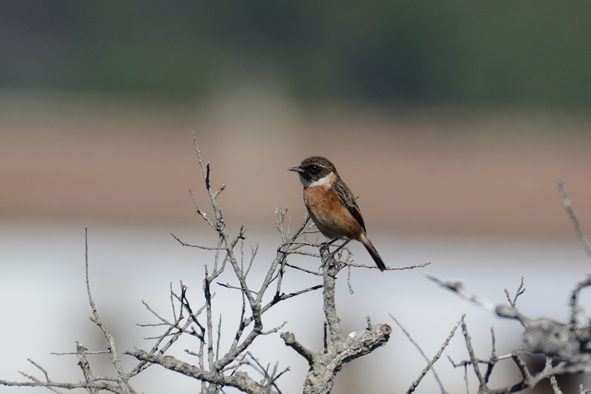
{"type": "Polygon", "coordinates": [[[333,254],[355,239],[365,246],[379,270],[384,271],[386,265],[367,236],[355,195],[340,178],[335,165],[322,156],[310,156],[288,170],[300,175],[310,217],[320,233],[331,239],[326,246],[337,239],[346,239],[333,254]]]}

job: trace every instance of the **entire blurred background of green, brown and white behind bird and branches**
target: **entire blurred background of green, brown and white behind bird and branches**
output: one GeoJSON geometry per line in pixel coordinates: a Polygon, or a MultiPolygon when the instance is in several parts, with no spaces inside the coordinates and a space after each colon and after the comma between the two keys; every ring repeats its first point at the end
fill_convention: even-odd
{"type": "MultiPolygon", "coordinates": [[[[393,314],[432,357],[467,313],[479,357],[490,354],[491,327],[499,354],[519,346],[518,324],[426,273],[495,303],[524,276],[521,310],[566,319],[569,291],[591,266],[556,190],[563,180],[591,231],[590,12],[551,1],[0,2],[0,379],[36,372],[30,357],[54,380],[77,381],[74,357],[48,353],[76,340],[104,346],[87,320],[85,226],[93,295],[120,350],[151,347],[135,326],[152,321],[141,299],[167,312],[179,280],[199,295],[211,255],[169,235],[215,243],[187,191],[207,207],[191,131],[212,184],[228,185],[226,222],[245,222],[246,245],[261,243],[261,270],[280,239],[275,208],[303,219],[287,168],[309,155],[331,159],[360,196],[388,265],[431,262],[353,271],[353,295],[342,274],[346,330],[366,315],[394,324],[393,314]]],[[[274,316],[300,311],[285,330],[319,349],[320,293],[307,297],[274,316]]],[[[281,387],[300,392],[306,364],[266,339],[261,360],[291,366],[281,387]]],[[[461,336],[447,354],[467,358],[461,336]]],[[[394,328],[387,347],[343,369],[335,392],[400,392],[425,363],[394,328]]],[[[446,388],[462,390],[463,371],[440,363],[446,388]]],[[[199,388],[146,374],[139,391],[199,388]]],[[[518,372],[507,364],[493,379],[513,384],[518,372]]],[[[433,390],[428,376],[418,392],[433,390]]]]}

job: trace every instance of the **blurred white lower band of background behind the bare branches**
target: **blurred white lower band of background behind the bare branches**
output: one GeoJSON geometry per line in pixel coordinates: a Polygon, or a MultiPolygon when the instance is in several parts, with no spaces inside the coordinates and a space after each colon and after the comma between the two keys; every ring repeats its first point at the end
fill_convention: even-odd
{"type": "MultiPolygon", "coordinates": [[[[211,264],[212,256],[202,250],[183,248],[170,235],[173,231],[187,242],[206,242],[210,234],[200,230],[163,227],[125,227],[93,225],[89,227],[90,286],[93,299],[103,321],[116,338],[120,354],[132,346],[150,349],[152,336],[160,330],[138,327],[137,323],[155,323],[141,300],[155,311],[171,318],[169,285],[178,290],[178,281],[189,286],[189,296],[196,307],[202,302],[202,272],[211,264]]],[[[77,382],[82,379],[76,356],[55,356],[51,352],[75,350],[75,341],[89,350],[105,349],[106,342],[99,328],[89,321],[84,277],[84,228],[79,223],[5,223],[0,227],[2,250],[2,348],[0,359],[2,379],[26,380],[18,371],[43,376],[31,364],[45,367],[51,379],[77,382]]],[[[245,245],[261,242],[255,260],[252,282],[259,283],[265,268],[274,258],[278,236],[271,233],[248,233],[245,245]]],[[[374,243],[391,266],[431,262],[424,269],[380,273],[377,270],[353,269],[350,280],[354,294],[349,294],[346,271],[339,275],[337,307],[345,332],[362,330],[366,317],[372,323],[393,326],[387,346],[354,360],[337,375],[335,392],[401,392],[417,379],[426,365],[407,337],[389,318],[394,315],[420,344],[428,357],[437,352],[453,325],[462,314],[473,338],[478,357],[487,359],[491,353],[491,328],[496,334],[497,354],[506,354],[519,347],[521,326],[515,321],[501,320],[491,312],[460,299],[439,288],[426,274],[440,279],[459,279],[466,287],[494,304],[506,302],[504,289],[514,294],[521,276],[525,293],[518,307],[530,317],[567,319],[567,301],[573,286],[589,272],[589,258],[576,242],[555,243],[532,240],[511,240],[482,237],[404,237],[380,234],[374,243]]],[[[245,249],[247,252],[249,248],[245,249]]],[[[360,245],[353,245],[355,260],[367,262],[360,245]]],[[[248,253],[246,254],[248,256],[248,253]]],[[[296,259],[297,261],[298,259],[296,259]]],[[[316,261],[300,259],[307,268],[316,268],[316,261]]],[[[226,273],[219,282],[235,284],[226,273]]],[[[284,279],[286,291],[317,284],[319,278],[307,278],[290,269],[284,279]]],[[[239,298],[234,291],[213,286],[216,293],[215,325],[222,314],[222,330],[227,344],[236,324],[239,298]]],[[[322,346],[322,301],[319,291],[282,302],[270,312],[265,329],[287,321],[280,331],[292,331],[310,349],[322,346]]],[[[584,295],[584,300],[588,300],[584,295]]],[[[585,305],[586,302],[583,302],[585,305]]],[[[197,341],[185,340],[173,354],[183,349],[197,349],[197,341]]],[[[251,351],[262,364],[278,362],[278,370],[289,366],[291,372],[280,380],[284,393],[301,392],[306,363],[282,343],[279,334],[259,338],[251,351]]],[[[467,359],[461,328],[451,341],[436,370],[450,392],[462,392],[463,369],[450,366],[447,356],[455,362],[467,359]]],[[[124,366],[134,365],[131,356],[122,356],[124,366]]],[[[95,373],[112,372],[106,356],[89,356],[95,373]],[[102,360],[102,362],[98,362],[102,360]]],[[[194,360],[194,359],[193,359],[194,360]]],[[[469,373],[473,376],[472,373],[469,373]]],[[[254,373],[256,376],[256,373],[254,373]]],[[[511,362],[504,362],[493,373],[499,385],[516,383],[518,372],[511,362]]],[[[196,381],[157,366],[135,378],[138,392],[189,393],[199,388],[196,381]]],[[[471,380],[475,390],[475,380],[471,380]]],[[[32,389],[8,389],[2,392],[31,392],[32,389]]],[[[437,392],[438,386],[427,375],[417,392],[437,392]]],[[[230,390],[231,391],[231,390],[230,390]]]]}

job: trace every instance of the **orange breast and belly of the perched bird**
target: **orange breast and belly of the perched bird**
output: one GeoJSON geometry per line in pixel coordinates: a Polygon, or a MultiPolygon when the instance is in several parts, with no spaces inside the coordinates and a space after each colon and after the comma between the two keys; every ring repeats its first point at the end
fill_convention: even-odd
{"type": "Polygon", "coordinates": [[[324,183],[304,189],[304,203],[314,224],[324,236],[329,239],[358,240],[363,228],[340,202],[332,186],[336,181],[336,176],[330,174],[324,183]]]}

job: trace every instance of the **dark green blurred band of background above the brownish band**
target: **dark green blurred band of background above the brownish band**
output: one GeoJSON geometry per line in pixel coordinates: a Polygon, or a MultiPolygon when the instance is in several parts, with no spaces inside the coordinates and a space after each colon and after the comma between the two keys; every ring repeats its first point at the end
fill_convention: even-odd
{"type": "Polygon", "coordinates": [[[591,3],[0,2],[0,86],[587,110],[591,3]]]}

